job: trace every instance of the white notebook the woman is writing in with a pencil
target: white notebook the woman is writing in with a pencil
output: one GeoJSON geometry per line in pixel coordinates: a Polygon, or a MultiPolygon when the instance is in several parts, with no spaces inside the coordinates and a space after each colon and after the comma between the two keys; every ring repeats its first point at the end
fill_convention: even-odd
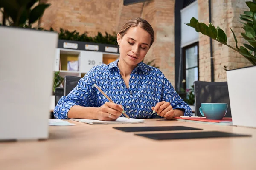
{"type": "Polygon", "coordinates": [[[102,121],[102,120],[94,120],[94,119],[71,119],[74,121],[88,123],[88,124],[129,124],[129,123],[144,123],[144,119],[133,119],[126,117],[119,117],[116,121],[102,121]]]}

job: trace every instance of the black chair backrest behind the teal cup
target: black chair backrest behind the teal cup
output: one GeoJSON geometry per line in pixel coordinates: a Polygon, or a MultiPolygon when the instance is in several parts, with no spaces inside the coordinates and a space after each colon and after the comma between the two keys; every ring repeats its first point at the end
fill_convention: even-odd
{"type": "Polygon", "coordinates": [[[227,82],[194,82],[195,91],[195,116],[202,116],[199,112],[201,103],[227,103],[225,117],[231,117],[230,99],[227,82]]]}

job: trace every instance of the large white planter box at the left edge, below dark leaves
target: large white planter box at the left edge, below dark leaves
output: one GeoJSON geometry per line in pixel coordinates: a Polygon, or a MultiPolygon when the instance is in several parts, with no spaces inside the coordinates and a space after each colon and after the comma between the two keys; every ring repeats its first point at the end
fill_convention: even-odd
{"type": "Polygon", "coordinates": [[[0,140],[47,139],[58,34],[0,26],[0,140]]]}

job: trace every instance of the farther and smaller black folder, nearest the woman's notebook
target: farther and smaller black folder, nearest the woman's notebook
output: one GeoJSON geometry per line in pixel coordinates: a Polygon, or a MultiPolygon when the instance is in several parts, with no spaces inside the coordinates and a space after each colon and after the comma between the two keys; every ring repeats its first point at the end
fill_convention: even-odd
{"type": "Polygon", "coordinates": [[[124,132],[149,132],[149,131],[169,131],[169,130],[203,130],[186,126],[148,126],[148,127],[113,127],[124,132]]]}

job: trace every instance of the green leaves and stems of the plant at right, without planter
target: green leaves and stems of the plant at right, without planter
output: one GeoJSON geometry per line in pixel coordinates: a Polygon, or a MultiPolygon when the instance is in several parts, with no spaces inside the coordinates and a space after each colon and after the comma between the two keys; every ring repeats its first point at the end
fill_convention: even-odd
{"type": "Polygon", "coordinates": [[[244,56],[253,65],[256,65],[256,3],[247,1],[246,4],[250,8],[250,11],[244,11],[244,14],[240,15],[240,19],[242,20],[240,23],[243,24],[242,28],[245,31],[241,33],[241,36],[247,40],[249,44],[244,43],[244,46],[240,46],[240,48],[237,45],[238,41],[236,39],[236,35],[231,28],[230,29],[236,42],[236,47],[228,45],[226,33],[219,27],[215,28],[212,23],[209,23],[207,26],[204,23],[199,23],[197,19],[192,17],[190,23],[187,23],[186,25],[195,28],[195,31],[197,32],[201,32],[202,34],[227,45],[229,48],[232,48],[244,56]]]}

